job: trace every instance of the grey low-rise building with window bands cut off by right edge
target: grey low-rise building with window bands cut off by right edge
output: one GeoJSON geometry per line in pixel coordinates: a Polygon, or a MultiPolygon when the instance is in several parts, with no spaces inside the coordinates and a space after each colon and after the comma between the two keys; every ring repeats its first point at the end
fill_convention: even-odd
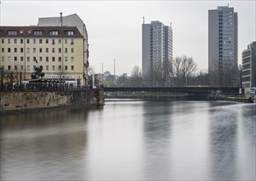
{"type": "Polygon", "coordinates": [[[256,89],[256,41],[242,53],[242,86],[245,95],[250,95],[251,89],[256,89]]]}

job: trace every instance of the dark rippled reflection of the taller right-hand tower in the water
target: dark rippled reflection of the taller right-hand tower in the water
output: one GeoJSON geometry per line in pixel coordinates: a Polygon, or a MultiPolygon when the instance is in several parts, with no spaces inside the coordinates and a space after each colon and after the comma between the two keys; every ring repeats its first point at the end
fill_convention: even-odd
{"type": "Polygon", "coordinates": [[[211,110],[209,135],[211,170],[214,180],[236,180],[238,178],[237,144],[239,109],[223,104],[211,110]]]}

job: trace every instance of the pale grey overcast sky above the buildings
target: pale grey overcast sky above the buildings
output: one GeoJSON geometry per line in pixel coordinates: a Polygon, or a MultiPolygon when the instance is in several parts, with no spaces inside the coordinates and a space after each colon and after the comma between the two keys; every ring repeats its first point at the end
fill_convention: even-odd
{"type": "MultiPolygon", "coordinates": [[[[0,0],[1,1],[1,0],[0,0]]],[[[0,26],[36,25],[39,17],[77,13],[89,35],[89,62],[95,72],[130,75],[142,68],[142,16],[145,23],[161,21],[173,28],[174,57],[192,57],[198,68],[207,69],[208,10],[234,7],[238,12],[238,59],[255,41],[256,1],[1,1],[0,26]]]]}

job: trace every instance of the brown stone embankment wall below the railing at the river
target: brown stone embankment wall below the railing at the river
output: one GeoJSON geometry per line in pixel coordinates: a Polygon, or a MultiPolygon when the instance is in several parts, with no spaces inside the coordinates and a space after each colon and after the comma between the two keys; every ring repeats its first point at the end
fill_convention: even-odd
{"type": "Polygon", "coordinates": [[[104,104],[103,90],[0,92],[0,112],[74,105],[104,104]]]}

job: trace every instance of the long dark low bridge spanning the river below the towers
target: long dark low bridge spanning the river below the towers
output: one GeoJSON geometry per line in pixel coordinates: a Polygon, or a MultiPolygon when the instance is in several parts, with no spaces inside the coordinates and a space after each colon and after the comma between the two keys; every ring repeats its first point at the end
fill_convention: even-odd
{"type": "Polygon", "coordinates": [[[193,94],[209,94],[221,93],[224,95],[238,95],[240,93],[239,87],[217,87],[217,86],[122,86],[122,87],[104,87],[105,92],[118,92],[118,91],[155,91],[155,92],[183,92],[193,94]]]}

